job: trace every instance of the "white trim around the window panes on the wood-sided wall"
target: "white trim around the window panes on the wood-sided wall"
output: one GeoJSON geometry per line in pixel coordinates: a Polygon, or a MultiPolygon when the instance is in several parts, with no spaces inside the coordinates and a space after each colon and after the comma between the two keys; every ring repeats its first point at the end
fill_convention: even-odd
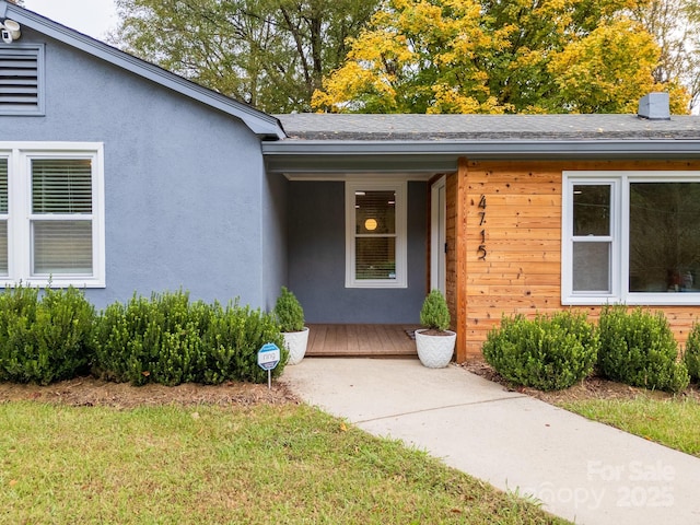
{"type": "MultiPolygon", "coordinates": [[[[700,304],[700,292],[643,293],[629,291],[629,202],[630,184],[635,182],[700,183],[698,171],[569,171],[563,172],[561,214],[561,302],[564,305],[630,305],[700,304]],[[611,293],[573,292],[573,186],[611,184],[610,234],[612,237],[610,281],[611,293]]],[[[599,238],[599,237],[597,237],[599,238]]],[[[581,241],[581,240],[579,240],[581,241]]]]}

